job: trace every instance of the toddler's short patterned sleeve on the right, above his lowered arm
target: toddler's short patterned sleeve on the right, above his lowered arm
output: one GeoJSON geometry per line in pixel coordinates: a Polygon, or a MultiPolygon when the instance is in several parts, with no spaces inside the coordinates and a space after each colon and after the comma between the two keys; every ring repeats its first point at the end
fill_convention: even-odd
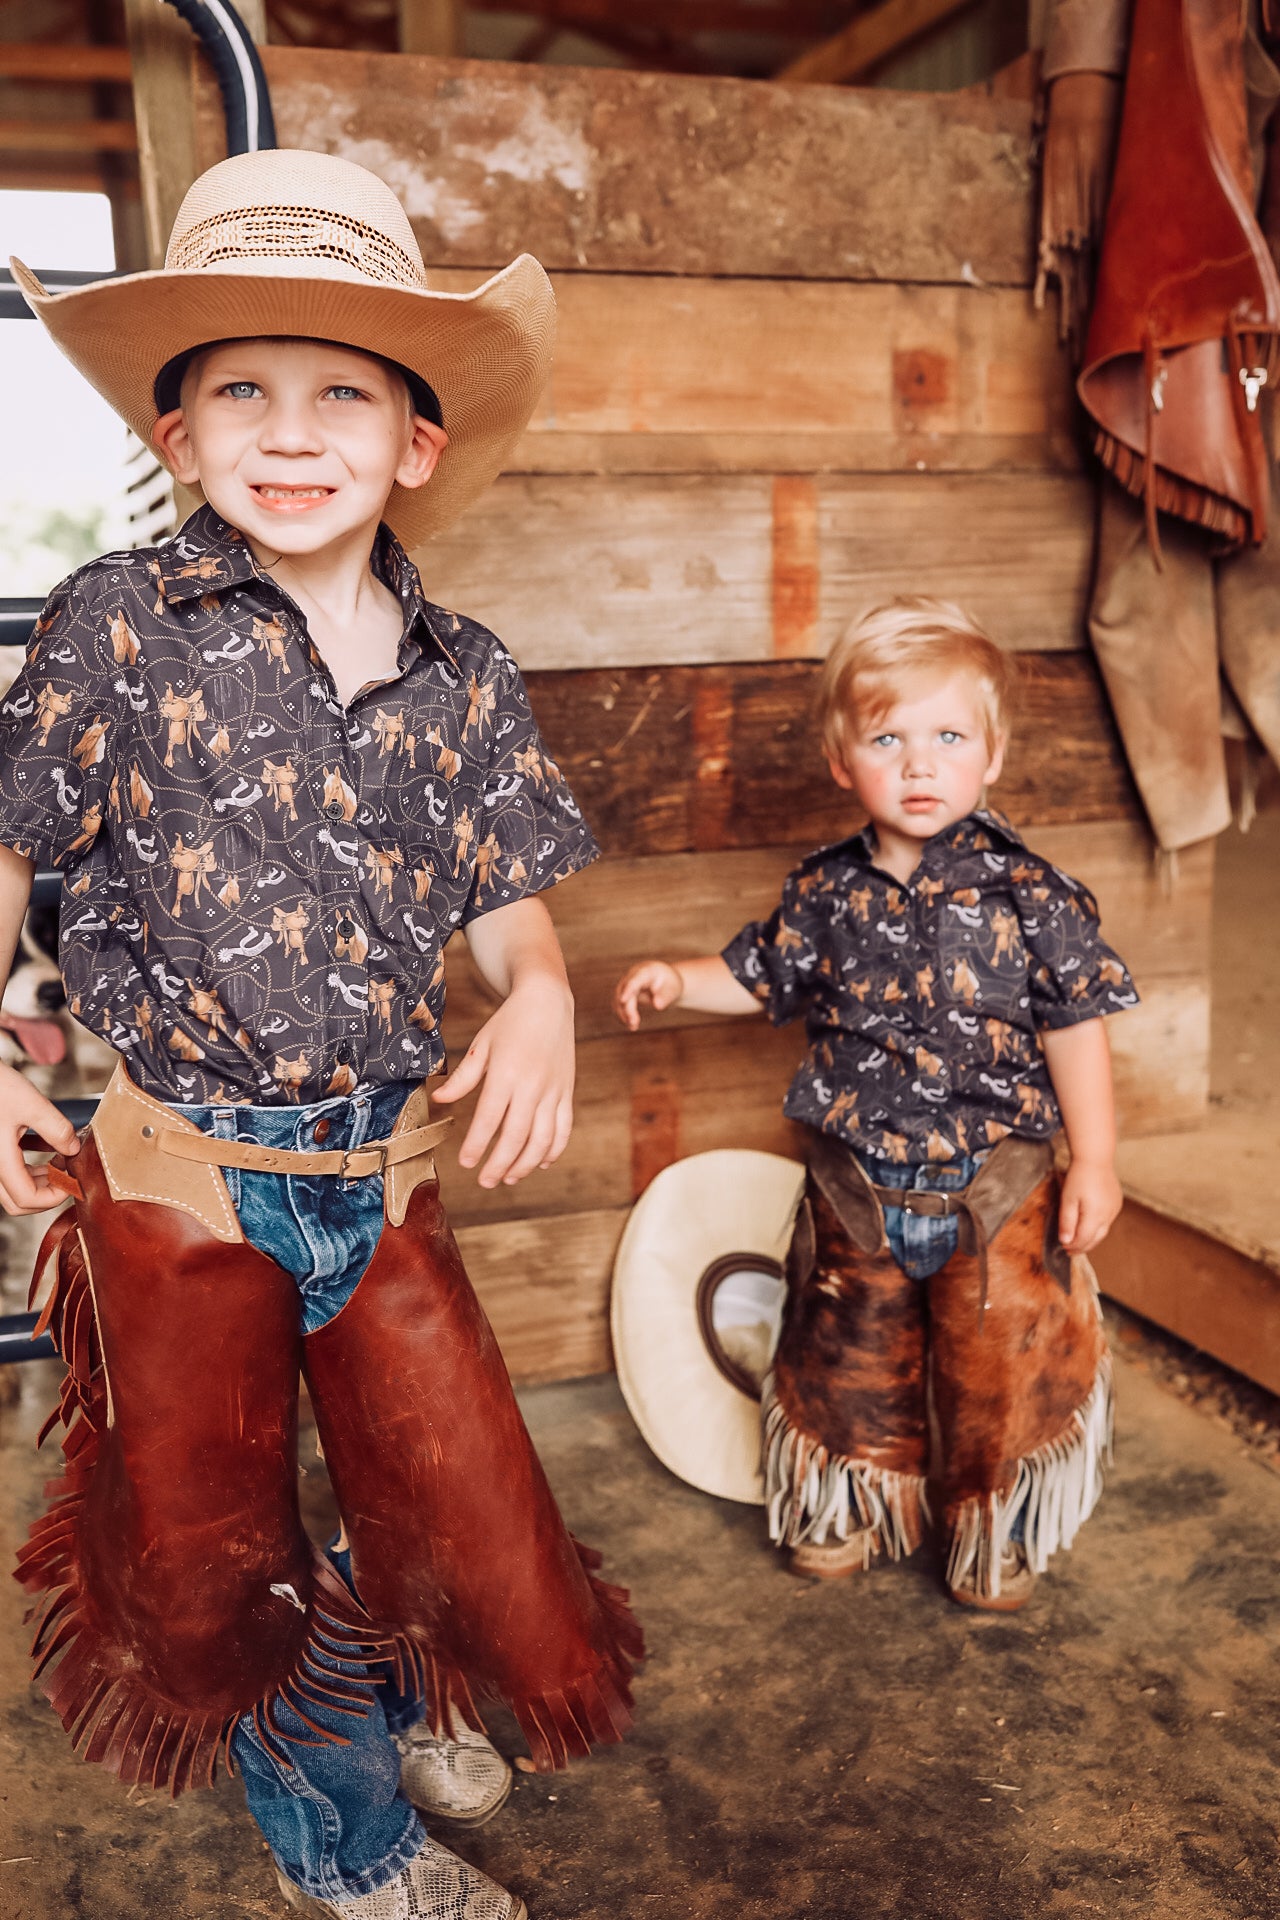
{"type": "Polygon", "coordinates": [[[1075,1027],[1138,1004],[1128,968],[1098,929],[1098,902],[1079,879],[1036,862],[1017,881],[1017,908],[1038,1029],[1075,1027]]]}

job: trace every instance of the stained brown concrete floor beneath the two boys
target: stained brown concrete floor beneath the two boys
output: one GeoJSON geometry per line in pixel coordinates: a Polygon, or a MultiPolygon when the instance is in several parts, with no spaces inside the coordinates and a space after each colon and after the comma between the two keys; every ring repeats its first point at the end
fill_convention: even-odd
{"type": "MultiPolygon", "coordinates": [[[[56,1384],[54,1363],[15,1371],[6,1563],[56,1384]]],[[[1280,1476],[1117,1371],[1107,1498],[1017,1617],[948,1605],[931,1559],[800,1584],[756,1511],[652,1459],[612,1380],[528,1392],[566,1517],[629,1582],[652,1657],[633,1738],[520,1776],[459,1851],[532,1920],[1274,1920],[1280,1476]]],[[[315,1469],[303,1486],[319,1521],[315,1469]]],[[[234,1782],[173,1805],[69,1755],[19,1615],[4,1582],[0,1916],[284,1914],[234,1782]]]]}

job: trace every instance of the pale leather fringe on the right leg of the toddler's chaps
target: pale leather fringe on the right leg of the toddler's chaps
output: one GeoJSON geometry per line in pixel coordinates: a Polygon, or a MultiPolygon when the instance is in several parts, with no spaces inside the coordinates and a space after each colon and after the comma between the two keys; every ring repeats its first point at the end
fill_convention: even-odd
{"type": "Polygon", "coordinates": [[[1025,1544],[1032,1572],[1044,1572],[1050,1553],[1071,1546],[1102,1498],[1111,1465],[1115,1423],[1111,1356],[1103,1354],[1098,1379],[1082,1407],[1071,1415],[1057,1440],[1019,1461],[1009,1494],[967,1500],[952,1523],[946,1584],[960,1586],[977,1567],[977,1590],[1000,1597],[1000,1561],[1009,1528],[1025,1505],[1025,1544]]]}

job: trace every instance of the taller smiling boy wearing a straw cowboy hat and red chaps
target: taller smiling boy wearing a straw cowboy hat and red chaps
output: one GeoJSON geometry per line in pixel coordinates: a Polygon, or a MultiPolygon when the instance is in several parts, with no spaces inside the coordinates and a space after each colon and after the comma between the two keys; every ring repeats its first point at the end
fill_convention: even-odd
{"type": "Polygon", "coordinates": [[[495,1187],[562,1152],[572,1000],[537,893],[595,847],[514,662],[426,601],[401,540],[526,426],[551,288],[522,257],[432,292],[380,180],[288,152],[198,180],[163,273],[48,298],[13,271],[205,497],[54,591],[4,705],[4,960],[33,866],[75,876],[67,993],[121,1054],[79,1142],[0,1069],[0,1202],[75,1202],[38,1261],[69,1363],[67,1476],[19,1571],[44,1686],[123,1780],[234,1759],[292,1905],[514,1920],[405,1788],[501,1805],[464,1726],[484,1695],[539,1766],[620,1738],[639,1636],[524,1432],[422,1081],[462,927],[501,1006],[436,1091],[480,1087],[459,1158],[495,1187]],[[297,1517],[299,1367],[344,1578],[297,1517]]]}

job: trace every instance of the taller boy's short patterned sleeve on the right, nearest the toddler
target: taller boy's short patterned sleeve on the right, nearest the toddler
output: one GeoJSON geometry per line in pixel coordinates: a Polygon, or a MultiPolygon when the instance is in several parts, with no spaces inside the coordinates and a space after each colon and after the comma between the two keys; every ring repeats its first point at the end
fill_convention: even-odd
{"type": "Polygon", "coordinates": [[[495,906],[545,893],[601,856],[537,732],[520,668],[503,647],[493,647],[484,672],[468,676],[464,741],[472,728],[489,737],[491,751],[464,925],[495,906]]]}

